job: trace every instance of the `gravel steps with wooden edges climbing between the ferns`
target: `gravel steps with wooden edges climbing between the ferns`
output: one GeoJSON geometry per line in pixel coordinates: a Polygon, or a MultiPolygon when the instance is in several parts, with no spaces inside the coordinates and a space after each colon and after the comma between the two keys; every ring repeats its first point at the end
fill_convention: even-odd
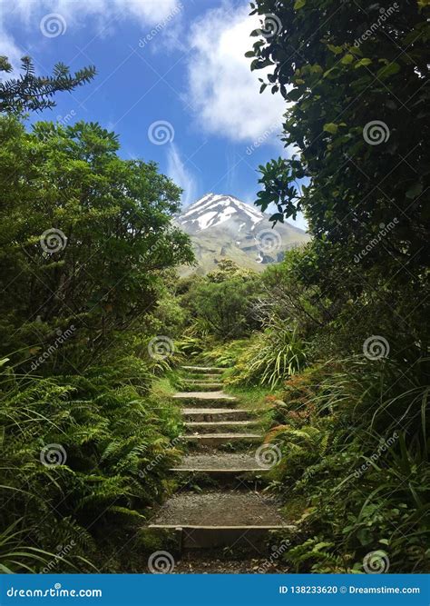
{"type": "Polygon", "coordinates": [[[172,397],[181,405],[181,440],[189,452],[171,469],[181,489],[161,506],[150,528],[172,531],[181,552],[239,548],[261,554],[270,531],[292,527],[256,489],[268,471],[256,456],[261,421],[222,391],[224,371],[181,368],[184,391],[172,397]]]}

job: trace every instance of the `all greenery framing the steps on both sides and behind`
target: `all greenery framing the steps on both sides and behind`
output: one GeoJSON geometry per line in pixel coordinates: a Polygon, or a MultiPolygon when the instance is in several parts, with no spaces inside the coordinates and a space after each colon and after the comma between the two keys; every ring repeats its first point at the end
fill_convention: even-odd
{"type": "Polygon", "coordinates": [[[269,394],[288,570],[362,571],[372,552],[428,570],[425,3],[252,10],[251,66],[270,68],[295,150],[260,167],[258,204],[304,211],[313,235],[260,275],[224,260],[179,280],[179,188],[99,124],[25,128],[44,83],[40,107],[28,78],[0,87],[3,571],[139,570],[179,433],[157,375],[194,354],[269,394]],[[156,335],[177,353],[151,355],[156,335]]]}

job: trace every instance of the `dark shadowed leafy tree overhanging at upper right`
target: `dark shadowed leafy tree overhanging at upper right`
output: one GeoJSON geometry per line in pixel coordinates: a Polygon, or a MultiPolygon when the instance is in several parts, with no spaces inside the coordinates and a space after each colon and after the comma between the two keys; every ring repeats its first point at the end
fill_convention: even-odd
{"type": "MultiPolygon", "coordinates": [[[[364,266],[408,263],[415,276],[429,239],[428,6],[406,0],[257,0],[264,24],[247,55],[270,69],[261,88],[286,101],[283,140],[292,159],[260,166],[257,204],[274,221],[304,210],[310,231],[353,258],[382,224],[396,227],[364,266]],[[270,29],[272,27],[272,29],[270,29]],[[263,33],[263,35],[262,35],[263,33]],[[307,185],[299,194],[298,181],[307,185]]],[[[394,272],[393,272],[394,273],[394,272]]]]}

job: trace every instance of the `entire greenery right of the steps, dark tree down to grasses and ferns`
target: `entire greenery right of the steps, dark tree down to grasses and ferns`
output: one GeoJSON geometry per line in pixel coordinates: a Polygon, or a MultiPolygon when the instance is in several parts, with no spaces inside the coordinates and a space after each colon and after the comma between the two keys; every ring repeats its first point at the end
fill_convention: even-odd
{"type": "Polygon", "coordinates": [[[376,570],[429,566],[425,4],[251,3],[251,69],[285,98],[295,152],[260,166],[257,204],[277,204],[275,224],[303,211],[313,240],[254,277],[241,307],[239,270],[195,285],[194,330],[224,340],[210,359],[234,364],[232,385],[276,396],[291,570],[362,571],[374,552],[376,570]],[[225,330],[210,322],[220,293],[225,330]]]}

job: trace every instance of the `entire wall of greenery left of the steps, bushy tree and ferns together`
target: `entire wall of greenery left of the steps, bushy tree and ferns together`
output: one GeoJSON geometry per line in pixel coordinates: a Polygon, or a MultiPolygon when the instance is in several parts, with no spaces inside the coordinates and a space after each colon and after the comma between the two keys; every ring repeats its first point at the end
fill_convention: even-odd
{"type": "Polygon", "coordinates": [[[174,336],[163,301],[192,261],[171,225],[181,190],[99,124],[25,128],[23,105],[85,76],[66,74],[0,91],[2,571],[130,570],[179,432],[148,343],[174,336]]]}

